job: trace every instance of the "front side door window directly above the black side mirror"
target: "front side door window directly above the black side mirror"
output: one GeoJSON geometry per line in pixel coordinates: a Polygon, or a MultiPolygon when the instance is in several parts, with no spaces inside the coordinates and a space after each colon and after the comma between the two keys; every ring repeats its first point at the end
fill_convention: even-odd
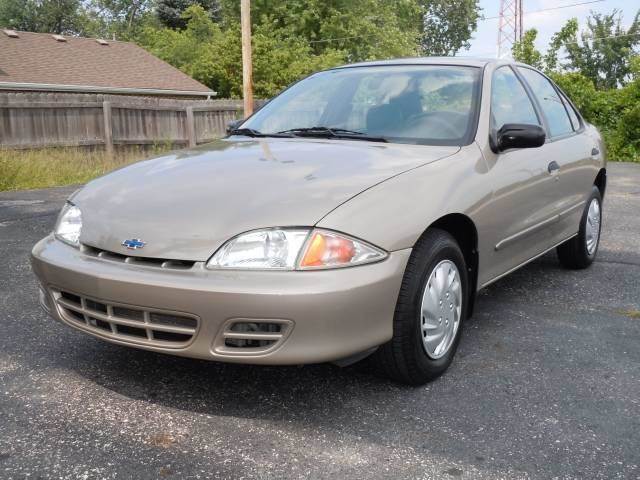
{"type": "Polygon", "coordinates": [[[529,95],[510,67],[501,67],[493,74],[491,121],[498,130],[505,123],[540,125],[529,95]]]}

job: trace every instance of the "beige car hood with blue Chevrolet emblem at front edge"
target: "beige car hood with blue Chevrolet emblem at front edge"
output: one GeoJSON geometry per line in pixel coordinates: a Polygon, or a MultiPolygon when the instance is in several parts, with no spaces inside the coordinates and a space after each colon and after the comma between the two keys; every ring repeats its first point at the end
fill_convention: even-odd
{"type": "Polygon", "coordinates": [[[82,211],[86,245],[204,261],[239,233],[312,226],[363,190],[458,150],[335,139],[220,140],[112,172],[72,201],[82,211]],[[143,249],[122,246],[134,238],[146,243],[143,249]]]}

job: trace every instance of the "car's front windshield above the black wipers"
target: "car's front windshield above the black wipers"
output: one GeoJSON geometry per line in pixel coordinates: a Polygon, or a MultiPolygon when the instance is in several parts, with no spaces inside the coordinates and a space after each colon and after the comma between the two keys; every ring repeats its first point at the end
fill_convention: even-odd
{"type": "Polygon", "coordinates": [[[237,133],[465,145],[479,77],[479,68],[443,65],[328,70],[285,90],[237,133]]]}

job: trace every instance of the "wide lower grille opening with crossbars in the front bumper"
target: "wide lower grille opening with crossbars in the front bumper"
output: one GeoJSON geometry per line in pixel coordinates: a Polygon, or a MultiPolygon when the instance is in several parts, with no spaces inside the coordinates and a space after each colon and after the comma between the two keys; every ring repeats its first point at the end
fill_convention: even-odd
{"type": "Polygon", "coordinates": [[[66,291],[53,291],[61,316],[72,325],[125,342],[180,348],[195,337],[194,316],[123,306],[66,291]]]}

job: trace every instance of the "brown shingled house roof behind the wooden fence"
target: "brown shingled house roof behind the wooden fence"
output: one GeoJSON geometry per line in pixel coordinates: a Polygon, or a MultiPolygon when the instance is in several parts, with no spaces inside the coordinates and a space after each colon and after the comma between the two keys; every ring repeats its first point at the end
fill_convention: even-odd
{"type": "Polygon", "coordinates": [[[0,88],[150,95],[214,95],[129,42],[0,31],[0,88]]]}

